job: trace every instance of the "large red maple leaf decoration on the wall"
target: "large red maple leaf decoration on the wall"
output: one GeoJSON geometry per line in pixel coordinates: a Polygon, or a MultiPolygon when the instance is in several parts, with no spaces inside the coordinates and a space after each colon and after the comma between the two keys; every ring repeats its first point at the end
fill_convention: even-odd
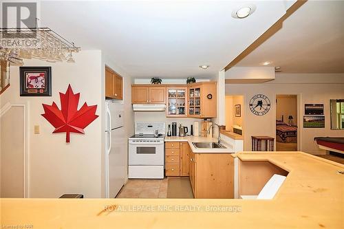
{"type": "Polygon", "coordinates": [[[83,129],[93,122],[96,116],[97,105],[83,107],[78,110],[80,93],[74,94],[72,87],[68,85],[65,94],[60,92],[61,110],[55,102],[52,105],[43,104],[42,116],[55,127],[52,133],[66,133],[66,142],[69,142],[69,133],[85,133],[83,129]]]}

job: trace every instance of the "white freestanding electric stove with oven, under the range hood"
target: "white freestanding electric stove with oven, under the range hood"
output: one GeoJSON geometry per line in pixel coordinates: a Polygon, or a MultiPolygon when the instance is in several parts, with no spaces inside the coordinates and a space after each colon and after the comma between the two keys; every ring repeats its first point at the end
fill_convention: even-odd
{"type": "Polygon", "coordinates": [[[135,135],[129,138],[129,178],[164,178],[164,133],[164,122],[135,124],[135,135]]]}

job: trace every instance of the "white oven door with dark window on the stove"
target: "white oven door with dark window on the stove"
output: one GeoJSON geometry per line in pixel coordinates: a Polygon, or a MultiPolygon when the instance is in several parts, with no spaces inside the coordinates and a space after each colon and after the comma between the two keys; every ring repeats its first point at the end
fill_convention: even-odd
{"type": "Polygon", "coordinates": [[[129,140],[129,165],[164,165],[163,140],[129,140]]]}

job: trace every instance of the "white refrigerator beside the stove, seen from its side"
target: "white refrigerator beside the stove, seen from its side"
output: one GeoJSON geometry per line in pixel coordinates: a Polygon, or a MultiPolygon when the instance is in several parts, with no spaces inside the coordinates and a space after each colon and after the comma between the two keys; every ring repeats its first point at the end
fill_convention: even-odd
{"type": "Polygon", "coordinates": [[[114,198],[127,179],[123,105],[105,102],[105,197],[114,198]]]}

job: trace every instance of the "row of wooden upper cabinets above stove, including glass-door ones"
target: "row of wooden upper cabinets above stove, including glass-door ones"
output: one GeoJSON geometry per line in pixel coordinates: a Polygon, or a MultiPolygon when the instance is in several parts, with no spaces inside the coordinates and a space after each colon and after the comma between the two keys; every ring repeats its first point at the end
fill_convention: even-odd
{"type": "Polygon", "coordinates": [[[166,104],[166,117],[216,118],[216,84],[131,85],[131,103],[166,104]]]}

